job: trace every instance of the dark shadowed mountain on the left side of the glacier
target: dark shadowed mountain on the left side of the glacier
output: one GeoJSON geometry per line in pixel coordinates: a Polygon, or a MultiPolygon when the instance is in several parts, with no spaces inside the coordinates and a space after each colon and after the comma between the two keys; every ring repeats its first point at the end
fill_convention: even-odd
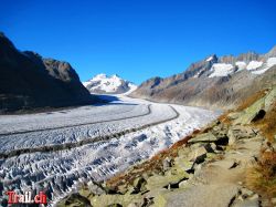
{"type": "Polygon", "coordinates": [[[0,33],[0,112],[92,103],[67,62],[21,52],[0,33]]]}

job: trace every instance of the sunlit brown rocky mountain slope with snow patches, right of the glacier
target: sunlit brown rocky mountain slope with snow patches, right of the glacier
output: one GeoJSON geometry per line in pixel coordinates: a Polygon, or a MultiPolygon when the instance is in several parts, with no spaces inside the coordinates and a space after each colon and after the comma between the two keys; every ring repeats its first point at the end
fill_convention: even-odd
{"type": "Polygon", "coordinates": [[[276,46],[266,54],[216,55],[192,63],[183,73],[144,82],[132,97],[157,102],[231,108],[276,83],[276,46]]]}

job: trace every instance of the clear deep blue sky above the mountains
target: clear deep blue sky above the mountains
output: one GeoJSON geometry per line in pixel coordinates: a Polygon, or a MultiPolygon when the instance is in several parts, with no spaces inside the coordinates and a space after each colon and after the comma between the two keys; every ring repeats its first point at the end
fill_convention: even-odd
{"type": "Polygon", "coordinates": [[[117,73],[139,84],[209,54],[267,52],[275,0],[1,0],[0,30],[20,50],[65,60],[82,81],[117,73]]]}

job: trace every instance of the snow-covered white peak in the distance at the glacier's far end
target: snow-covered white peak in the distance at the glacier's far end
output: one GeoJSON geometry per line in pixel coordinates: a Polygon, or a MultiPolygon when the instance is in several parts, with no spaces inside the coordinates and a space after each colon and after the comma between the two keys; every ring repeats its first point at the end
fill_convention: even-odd
{"type": "Polygon", "coordinates": [[[134,83],[123,80],[116,74],[112,76],[98,74],[83,84],[91,93],[96,94],[130,93],[137,89],[134,83]]]}

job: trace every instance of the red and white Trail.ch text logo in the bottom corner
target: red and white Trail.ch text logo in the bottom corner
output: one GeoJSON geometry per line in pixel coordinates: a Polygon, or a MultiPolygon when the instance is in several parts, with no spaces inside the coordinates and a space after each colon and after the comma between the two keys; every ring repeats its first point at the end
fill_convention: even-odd
{"type": "Polygon", "coordinates": [[[8,195],[8,205],[13,206],[14,204],[38,204],[41,207],[46,206],[47,197],[43,192],[32,196],[31,190],[26,190],[23,194],[17,194],[13,190],[6,193],[8,195]]]}

